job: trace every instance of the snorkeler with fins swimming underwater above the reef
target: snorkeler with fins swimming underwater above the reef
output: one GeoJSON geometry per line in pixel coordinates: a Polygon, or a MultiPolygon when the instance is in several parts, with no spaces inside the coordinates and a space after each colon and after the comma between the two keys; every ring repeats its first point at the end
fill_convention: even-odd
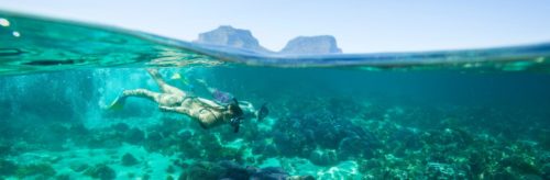
{"type": "MultiPolygon", "coordinates": [[[[118,97],[109,109],[121,109],[128,97],[145,98],[158,103],[162,111],[188,115],[198,121],[202,128],[230,124],[235,133],[239,132],[239,126],[243,120],[255,116],[258,121],[262,121],[267,116],[268,110],[265,104],[258,111],[255,111],[252,103],[240,103],[232,95],[230,100],[224,102],[215,102],[195,97],[166,83],[156,69],[147,69],[147,71],[162,92],[153,92],[146,89],[124,90],[122,95],[118,97]]],[[[206,86],[204,81],[201,83],[206,86]]],[[[216,94],[213,95],[216,97],[216,94]]]]}

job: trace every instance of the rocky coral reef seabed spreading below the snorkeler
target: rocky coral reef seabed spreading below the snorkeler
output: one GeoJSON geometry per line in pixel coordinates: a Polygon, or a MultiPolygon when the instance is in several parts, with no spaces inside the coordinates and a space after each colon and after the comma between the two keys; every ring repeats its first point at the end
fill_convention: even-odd
{"type": "Polygon", "coordinates": [[[504,119],[496,110],[454,108],[449,114],[450,110],[440,109],[365,105],[346,98],[282,106],[302,110],[246,122],[239,134],[223,127],[205,131],[187,117],[173,115],[146,125],[117,121],[102,127],[65,122],[10,124],[1,128],[22,131],[19,136],[0,138],[0,178],[550,178],[550,131],[514,121],[506,121],[514,127],[495,123],[504,119]],[[487,120],[472,123],[471,116],[481,114],[487,120]],[[89,151],[75,153],[78,149],[89,151]],[[21,164],[33,159],[25,158],[25,153],[37,150],[42,151],[40,160],[21,164]],[[103,159],[70,160],[97,155],[103,159]]]}

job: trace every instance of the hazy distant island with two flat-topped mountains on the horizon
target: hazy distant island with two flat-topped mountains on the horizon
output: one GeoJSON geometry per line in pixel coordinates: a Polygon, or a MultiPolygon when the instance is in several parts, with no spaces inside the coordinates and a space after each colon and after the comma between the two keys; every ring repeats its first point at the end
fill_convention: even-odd
{"type": "Polygon", "coordinates": [[[257,38],[249,30],[234,29],[230,25],[221,25],[216,30],[200,33],[199,38],[195,43],[230,46],[266,54],[304,55],[342,53],[342,49],[338,47],[337,40],[331,35],[298,36],[290,40],[282,50],[274,52],[260,45],[257,38]]]}

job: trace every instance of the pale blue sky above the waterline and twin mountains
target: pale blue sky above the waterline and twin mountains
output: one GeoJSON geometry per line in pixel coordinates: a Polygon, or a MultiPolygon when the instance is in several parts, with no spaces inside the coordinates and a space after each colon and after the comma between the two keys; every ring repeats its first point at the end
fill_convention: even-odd
{"type": "Polygon", "coordinates": [[[418,52],[550,42],[546,0],[0,0],[0,10],[194,41],[232,25],[279,50],[333,35],[344,53],[418,52]]]}

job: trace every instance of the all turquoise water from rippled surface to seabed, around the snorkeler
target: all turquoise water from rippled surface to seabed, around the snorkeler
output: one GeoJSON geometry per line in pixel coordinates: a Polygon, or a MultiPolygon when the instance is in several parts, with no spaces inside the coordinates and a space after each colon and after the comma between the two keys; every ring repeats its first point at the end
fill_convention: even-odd
{"type": "Polygon", "coordinates": [[[264,55],[0,12],[1,179],[550,179],[550,44],[264,55]],[[230,92],[263,121],[204,130],[129,98],[230,92]]]}

